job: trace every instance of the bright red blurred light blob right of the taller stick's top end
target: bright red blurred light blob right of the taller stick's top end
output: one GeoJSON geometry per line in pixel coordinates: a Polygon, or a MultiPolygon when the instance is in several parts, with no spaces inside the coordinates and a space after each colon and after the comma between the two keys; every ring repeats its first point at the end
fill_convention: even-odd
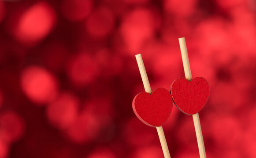
{"type": "Polygon", "coordinates": [[[197,52],[205,58],[204,61],[208,59],[208,63],[216,62],[216,65],[230,61],[235,46],[230,38],[233,35],[230,35],[227,28],[228,23],[221,18],[211,18],[197,25],[193,31],[193,36],[196,37],[194,45],[197,52]]]}

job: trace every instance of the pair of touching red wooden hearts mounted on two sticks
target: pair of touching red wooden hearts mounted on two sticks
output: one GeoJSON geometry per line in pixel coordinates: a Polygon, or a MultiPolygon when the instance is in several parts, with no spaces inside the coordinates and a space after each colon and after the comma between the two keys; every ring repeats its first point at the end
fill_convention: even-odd
{"type": "Polygon", "coordinates": [[[190,82],[180,78],[172,83],[171,93],[167,89],[157,88],[151,94],[137,94],[133,100],[133,110],[146,125],[162,126],[171,114],[173,101],[182,112],[193,115],[204,107],[209,91],[209,84],[203,77],[196,77],[190,82]]]}

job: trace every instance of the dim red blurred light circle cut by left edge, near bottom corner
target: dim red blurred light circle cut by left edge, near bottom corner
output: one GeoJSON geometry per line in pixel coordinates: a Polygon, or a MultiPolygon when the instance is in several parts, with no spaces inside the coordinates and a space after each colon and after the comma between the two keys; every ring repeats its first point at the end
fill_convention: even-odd
{"type": "Polygon", "coordinates": [[[19,140],[25,130],[24,120],[13,111],[0,114],[0,137],[7,143],[19,140]]]}

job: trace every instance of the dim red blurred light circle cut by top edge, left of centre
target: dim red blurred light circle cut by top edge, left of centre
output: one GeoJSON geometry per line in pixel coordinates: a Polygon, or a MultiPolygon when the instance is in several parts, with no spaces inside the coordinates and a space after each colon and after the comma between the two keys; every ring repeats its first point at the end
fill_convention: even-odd
{"type": "Polygon", "coordinates": [[[93,9],[93,0],[63,0],[61,10],[72,22],[85,19],[93,9]]]}

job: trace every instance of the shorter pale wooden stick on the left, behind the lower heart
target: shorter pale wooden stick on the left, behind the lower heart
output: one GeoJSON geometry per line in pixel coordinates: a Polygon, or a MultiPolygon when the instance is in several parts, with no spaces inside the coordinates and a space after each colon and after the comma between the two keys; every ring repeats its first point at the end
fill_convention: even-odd
{"type": "MultiPolygon", "coordinates": [[[[148,81],[148,75],[146,73],[145,66],[144,66],[141,54],[137,54],[137,55],[135,55],[135,57],[136,57],[136,60],[137,60],[137,63],[138,63],[140,73],[141,73],[141,79],[142,79],[145,91],[147,93],[152,93],[151,87],[150,87],[150,84],[149,84],[149,81],[148,81]]],[[[158,136],[159,136],[159,139],[160,139],[160,143],[161,143],[161,146],[162,146],[162,149],[163,149],[164,158],[171,158],[169,150],[168,150],[167,142],[166,142],[166,139],[165,139],[165,136],[164,136],[164,133],[163,133],[163,127],[162,126],[156,127],[156,130],[157,130],[157,133],[158,133],[158,136]]]]}

